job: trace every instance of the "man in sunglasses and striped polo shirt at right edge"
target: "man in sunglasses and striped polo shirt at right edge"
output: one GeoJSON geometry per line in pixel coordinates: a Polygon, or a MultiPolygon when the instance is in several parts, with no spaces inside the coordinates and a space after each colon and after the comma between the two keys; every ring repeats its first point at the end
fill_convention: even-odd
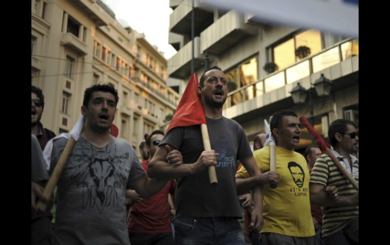
{"type": "MultiPolygon", "coordinates": [[[[355,122],[338,119],[329,126],[332,153],[347,172],[359,183],[359,135],[355,122]]],[[[310,178],[310,201],[322,206],[322,237],[325,244],[358,244],[359,191],[342,176],[327,155],[317,158],[310,178]],[[327,186],[339,189],[335,199],[325,192],[327,186]],[[355,240],[354,240],[355,239],[355,240]]]]}

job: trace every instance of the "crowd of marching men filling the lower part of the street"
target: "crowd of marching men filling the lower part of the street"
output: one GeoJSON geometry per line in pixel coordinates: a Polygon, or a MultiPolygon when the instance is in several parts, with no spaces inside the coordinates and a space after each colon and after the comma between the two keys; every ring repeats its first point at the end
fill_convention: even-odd
{"type": "MultiPolygon", "coordinates": [[[[270,135],[256,135],[252,151],[242,126],[222,116],[227,92],[219,67],[203,73],[198,95],[212,150],[204,149],[200,125],[179,126],[144,132],[140,162],[110,133],[118,92],[109,84],[87,88],[83,130],[47,198],[43,189],[68,139],[43,127],[44,95],[31,86],[31,244],[358,244],[359,190],[319,146],[304,156],[294,151],[297,114],[275,112],[270,135]],[[276,171],[266,137],[276,142],[276,171]]],[[[333,155],[359,182],[357,125],[337,119],[328,135],[333,155]]]]}

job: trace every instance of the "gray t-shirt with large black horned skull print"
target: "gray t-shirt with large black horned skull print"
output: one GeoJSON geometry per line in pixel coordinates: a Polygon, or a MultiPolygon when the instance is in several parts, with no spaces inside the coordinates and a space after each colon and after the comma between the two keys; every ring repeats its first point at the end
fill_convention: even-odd
{"type": "MultiPolygon", "coordinates": [[[[53,171],[67,139],[53,142],[53,171]]],[[[74,144],[57,183],[53,244],[129,244],[126,188],[145,175],[132,146],[112,137],[104,148],[74,144]]]]}

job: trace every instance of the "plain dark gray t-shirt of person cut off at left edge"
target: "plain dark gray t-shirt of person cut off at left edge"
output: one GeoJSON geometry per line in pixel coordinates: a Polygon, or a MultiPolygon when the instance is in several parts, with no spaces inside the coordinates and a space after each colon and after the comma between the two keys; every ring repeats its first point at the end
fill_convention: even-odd
{"type": "Polygon", "coordinates": [[[40,143],[35,135],[31,134],[31,181],[39,182],[48,180],[49,174],[42,156],[40,143]]]}

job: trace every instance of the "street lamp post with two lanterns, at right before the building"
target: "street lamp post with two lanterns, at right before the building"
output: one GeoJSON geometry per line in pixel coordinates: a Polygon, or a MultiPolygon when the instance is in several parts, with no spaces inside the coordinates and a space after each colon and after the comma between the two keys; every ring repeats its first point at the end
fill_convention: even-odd
{"type": "MultiPolygon", "coordinates": [[[[317,92],[317,95],[320,97],[326,97],[329,96],[330,94],[330,89],[332,88],[332,82],[324,76],[324,74],[321,74],[321,77],[317,79],[314,82],[314,88],[317,92]]],[[[313,86],[312,86],[313,87],[313,86]]],[[[313,105],[313,97],[311,95],[311,90],[307,91],[304,87],[298,84],[293,87],[291,90],[291,97],[294,101],[294,104],[301,104],[306,101],[306,95],[308,95],[308,103],[309,103],[309,108],[310,108],[310,121],[311,125],[314,126],[314,105],[313,105]]]]}

